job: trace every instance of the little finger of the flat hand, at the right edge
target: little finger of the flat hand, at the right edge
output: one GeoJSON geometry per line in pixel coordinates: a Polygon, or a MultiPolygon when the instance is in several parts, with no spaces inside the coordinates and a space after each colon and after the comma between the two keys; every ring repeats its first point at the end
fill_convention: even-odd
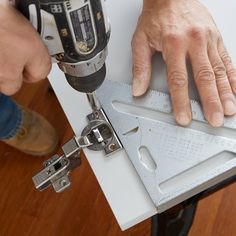
{"type": "Polygon", "coordinates": [[[219,56],[220,56],[222,62],[224,63],[231,88],[232,88],[233,92],[236,93],[236,69],[235,69],[235,67],[232,63],[232,60],[231,60],[231,58],[224,46],[222,39],[220,39],[219,43],[218,43],[218,52],[219,52],[219,56]]]}

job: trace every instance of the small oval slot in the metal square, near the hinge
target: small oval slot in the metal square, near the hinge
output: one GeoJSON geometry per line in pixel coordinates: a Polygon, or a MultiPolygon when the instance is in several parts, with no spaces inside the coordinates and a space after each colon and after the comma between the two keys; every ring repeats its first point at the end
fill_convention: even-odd
{"type": "Polygon", "coordinates": [[[139,157],[142,165],[149,171],[155,171],[157,168],[156,162],[154,161],[150,151],[147,147],[142,146],[139,148],[139,157]]]}

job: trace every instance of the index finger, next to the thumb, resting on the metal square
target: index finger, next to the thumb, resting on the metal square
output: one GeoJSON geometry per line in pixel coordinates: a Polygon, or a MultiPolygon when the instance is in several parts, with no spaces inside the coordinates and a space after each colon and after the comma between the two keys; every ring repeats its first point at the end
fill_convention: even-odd
{"type": "Polygon", "coordinates": [[[188,95],[188,74],[186,55],[181,48],[166,51],[168,87],[171,95],[173,112],[178,124],[187,126],[192,119],[191,105],[188,95]]]}

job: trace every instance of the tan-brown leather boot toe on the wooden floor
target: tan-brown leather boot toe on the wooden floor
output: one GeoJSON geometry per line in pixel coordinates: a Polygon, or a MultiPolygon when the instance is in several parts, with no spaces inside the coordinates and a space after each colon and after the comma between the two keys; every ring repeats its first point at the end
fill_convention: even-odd
{"type": "Polygon", "coordinates": [[[22,125],[17,134],[3,142],[30,155],[44,156],[53,152],[58,136],[51,124],[38,113],[22,108],[22,125]]]}

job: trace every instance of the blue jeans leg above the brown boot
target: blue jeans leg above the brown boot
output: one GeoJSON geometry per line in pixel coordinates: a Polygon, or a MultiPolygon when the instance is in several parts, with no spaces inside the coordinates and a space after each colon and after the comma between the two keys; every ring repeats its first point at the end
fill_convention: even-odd
{"type": "Polygon", "coordinates": [[[21,122],[21,108],[10,97],[0,93],[0,139],[12,138],[21,122]]]}

